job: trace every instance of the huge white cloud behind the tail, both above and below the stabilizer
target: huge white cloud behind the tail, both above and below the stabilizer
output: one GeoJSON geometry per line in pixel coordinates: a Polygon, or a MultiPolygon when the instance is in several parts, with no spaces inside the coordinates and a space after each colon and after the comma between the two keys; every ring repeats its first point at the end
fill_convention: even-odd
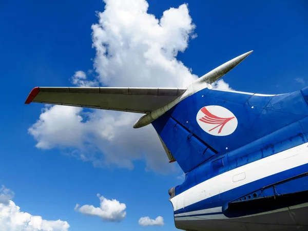
{"type": "MultiPolygon", "coordinates": [[[[194,34],[186,4],[170,8],[158,19],[147,13],[145,0],[105,0],[105,11],[92,25],[96,80],[77,71],[71,81],[78,86],[183,87],[197,79],[177,60],[194,34]]],[[[219,81],[215,87],[223,86],[219,81]]],[[[170,171],[165,151],[151,125],[133,129],[141,114],[81,108],[45,107],[29,128],[36,147],[69,148],[72,155],[95,166],[133,168],[145,159],[146,169],[170,171]]]]}

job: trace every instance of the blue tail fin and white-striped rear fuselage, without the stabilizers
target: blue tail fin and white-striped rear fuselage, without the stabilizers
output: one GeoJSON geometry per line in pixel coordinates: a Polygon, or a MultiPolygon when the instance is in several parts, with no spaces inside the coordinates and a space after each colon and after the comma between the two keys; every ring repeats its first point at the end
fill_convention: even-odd
{"type": "MultiPolygon", "coordinates": [[[[281,95],[205,88],[152,122],[185,172],[170,193],[178,228],[308,230],[307,96],[308,87],[281,95]],[[197,114],[207,106],[232,112],[234,132],[202,129],[197,114]]],[[[211,116],[215,130],[223,119],[211,116]]]]}

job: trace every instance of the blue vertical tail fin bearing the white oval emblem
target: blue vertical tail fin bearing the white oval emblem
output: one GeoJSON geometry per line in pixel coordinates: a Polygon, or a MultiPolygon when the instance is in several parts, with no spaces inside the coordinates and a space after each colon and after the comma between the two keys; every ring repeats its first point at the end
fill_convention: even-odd
{"type": "Polygon", "coordinates": [[[280,95],[204,88],[152,125],[185,173],[225,154],[215,164],[253,152],[260,159],[307,142],[307,95],[308,87],[280,95]]]}

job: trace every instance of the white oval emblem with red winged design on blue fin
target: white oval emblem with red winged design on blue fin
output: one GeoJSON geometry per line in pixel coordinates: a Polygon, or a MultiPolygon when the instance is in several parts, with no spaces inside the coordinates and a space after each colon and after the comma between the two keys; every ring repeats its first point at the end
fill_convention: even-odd
{"type": "Polygon", "coordinates": [[[228,136],[237,128],[238,121],[228,109],[217,106],[205,106],[197,113],[199,126],[213,136],[228,136]]]}

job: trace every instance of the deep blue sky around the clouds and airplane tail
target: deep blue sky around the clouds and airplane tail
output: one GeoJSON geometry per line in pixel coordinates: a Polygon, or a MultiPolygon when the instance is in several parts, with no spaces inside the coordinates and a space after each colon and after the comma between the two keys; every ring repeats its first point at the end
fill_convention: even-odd
{"type": "MultiPolygon", "coordinates": [[[[131,1],[131,4],[133,2],[139,4],[142,1],[131,1]]],[[[186,43],[182,44],[181,37],[172,37],[167,44],[172,46],[172,43],[178,42],[178,50],[184,46],[185,51],[179,52],[176,59],[191,68],[192,74],[201,76],[242,53],[254,50],[243,63],[224,76],[224,81],[230,87],[239,91],[271,94],[291,92],[306,86],[307,2],[151,0],[148,1],[148,13],[159,19],[170,7],[178,8],[184,3],[188,3],[189,15],[196,25],[193,33],[187,28],[185,33],[196,33],[198,36],[189,38],[187,47],[186,43]]],[[[106,157],[107,151],[109,157],[112,156],[112,150],[123,152],[120,156],[122,159],[125,159],[125,149],[117,149],[112,142],[109,145],[108,139],[104,140],[104,146],[108,146],[108,149],[100,147],[99,141],[82,140],[82,146],[73,144],[71,140],[70,143],[50,141],[47,140],[49,137],[44,126],[35,130],[39,133],[37,136],[28,132],[44,108],[44,105],[24,105],[33,87],[73,86],[75,72],[80,70],[87,74],[89,81],[96,78],[101,86],[104,83],[119,85],[122,80],[126,81],[126,75],[122,73],[126,70],[119,72],[123,74],[123,79],[114,79],[112,82],[106,80],[106,76],[102,77],[102,72],[93,69],[96,48],[92,48],[91,25],[98,24],[95,12],[103,12],[104,7],[101,0],[92,0],[90,3],[71,0],[1,1],[3,110],[0,128],[3,133],[0,140],[0,185],[14,191],[12,201],[20,206],[21,211],[42,216],[46,220],[67,221],[69,230],[176,230],[172,206],[168,201],[168,189],[183,181],[178,179],[182,172],[176,163],[168,164],[166,158],[152,160],[149,155],[155,155],[155,152],[149,154],[149,149],[142,147],[144,152],[140,152],[138,157],[132,157],[134,150],[130,150],[128,164],[122,160],[112,160],[111,164],[102,162],[99,166],[93,166],[97,159],[85,149],[97,145],[93,153],[102,157],[106,157]],[[50,148],[35,147],[37,143],[47,141],[50,148]],[[75,152],[77,155],[74,155],[75,152]],[[81,158],[81,153],[88,155],[86,160],[81,158]],[[159,167],[164,162],[164,170],[169,168],[166,171],[159,167]],[[74,210],[76,203],[99,207],[97,194],[125,203],[125,219],[119,223],[102,221],[99,217],[84,216],[74,210]],[[140,226],[138,220],[146,216],[151,219],[162,216],[165,225],[140,226]]],[[[109,19],[112,17],[109,15],[109,19]]],[[[130,27],[140,32],[138,25],[130,27]]],[[[129,34],[127,36],[130,38],[129,34]]],[[[108,41],[112,41],[112,37],[108,37],[108,41]]],[[[118,69],[121,71],[120,67],[118,69]]],[[[149,74],[152,79],[156,78],[155,74],[149,74]]],[[[184,77],[179,77],[179,80],[173,78],[168,84],[178,84],[184,77]]],[[[148,84],[148,87],[162,83],[155,80],[130,80],[129,77],[128,80],[132,83],[143,81],[142,84],[148,84]]],[[[56,121],[60,120],[61,109],[55,113],[56,121]]],[[[73,118],[76,118],[82,112],[72,113],[73,118]]],[[[81,115],[86,120],[85,115],[81,115]]],[[[113,114],[107,115],[110,118],[113,114]]],[[[119,113],[115,116],[121,117],[119,113]]],[[[104,114],[100,115],[102,118],[104,114]]],[[[130,127],[132,125],[129,124],[130,127]]],[[[138,139],[140,134],[136,131],[134,138],[138,139]]],[[[87,138],[91,137],[91,134],[86,135],[87,138]]],[[[133,133],[131,136],[134,136],[133,133]]],[[[164,153],[160,155],[163,156],[164,153]]]]}

